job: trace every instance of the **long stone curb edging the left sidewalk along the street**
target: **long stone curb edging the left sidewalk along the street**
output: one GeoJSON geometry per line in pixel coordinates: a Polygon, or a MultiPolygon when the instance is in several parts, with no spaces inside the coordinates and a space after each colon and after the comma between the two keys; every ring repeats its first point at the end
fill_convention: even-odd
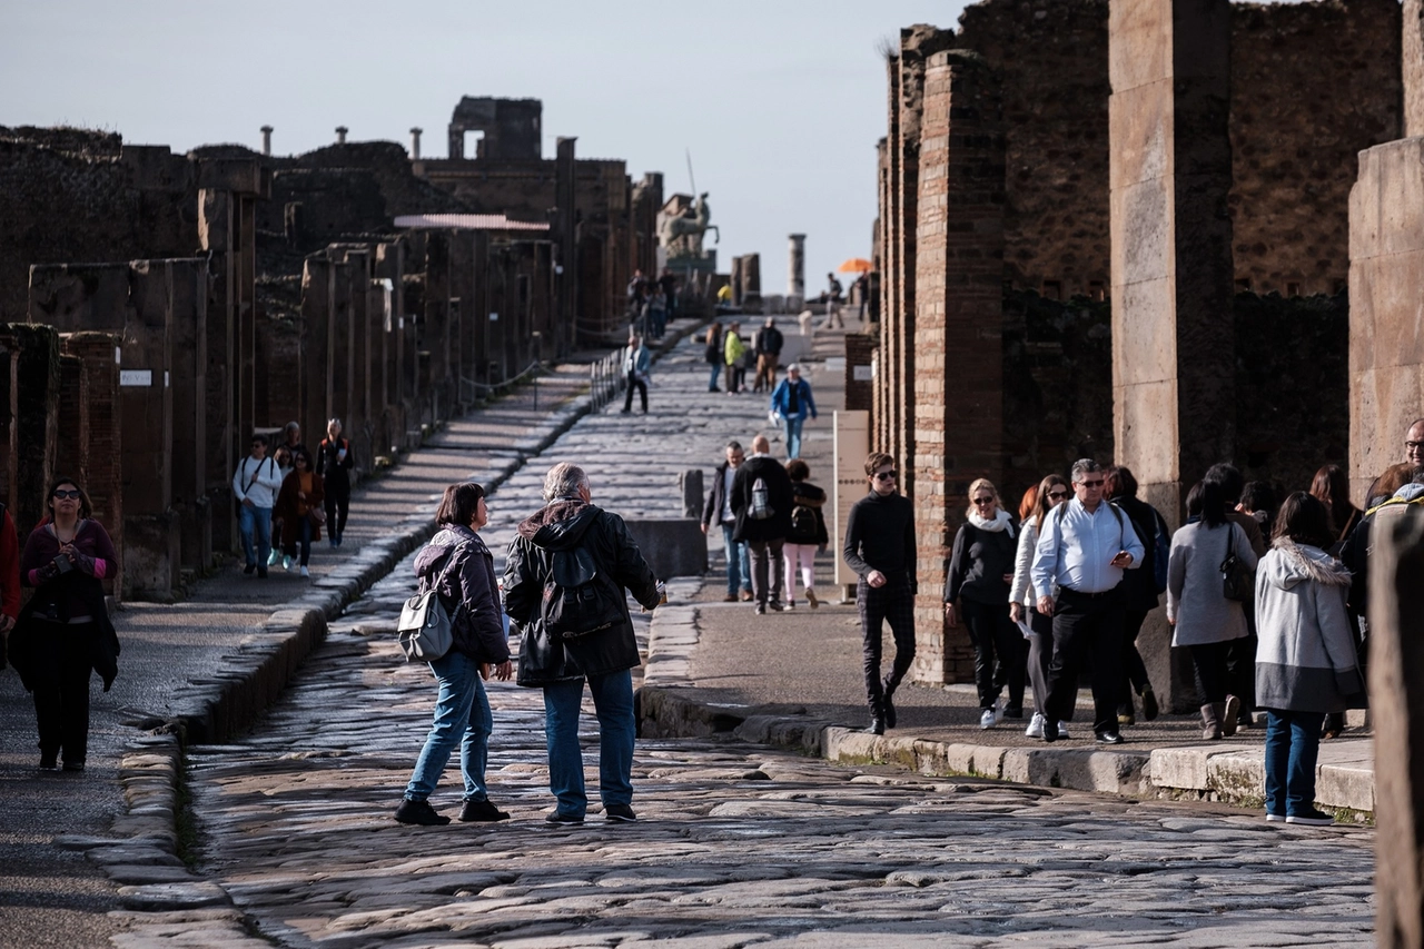
{"type": "MultiPolygon", "coordinates": [[[[703,325],[669,328],[654,348],[654,362],[703,325]]],[[[514,446],[514,457],[490,477],[486,489],[507,482],[595,408],[592,393],[574,399],[543,435],[514,446]]],[[[127,811],[114,821],[112,836],[67,835],[56,844],[87,851],[87,856],[120,885],[120,902],[125,909],[169,912],[231,906],[222,888],[192,875],[177,856],[184,747],[187,742],[222,742],[251,727],[282,694],[302,661],[326,640],[328,621],[340,616],[434,531],[433,513],[412,513],[390,534],[370,541],[350,561],[272,613],[261,631],[244,637],[238,651],[212,674],[179,685],[174,693],[177,711],[167,720],[145,722],[154,734],[131,741],[124,751],[120,781],[127,811]]]]}

